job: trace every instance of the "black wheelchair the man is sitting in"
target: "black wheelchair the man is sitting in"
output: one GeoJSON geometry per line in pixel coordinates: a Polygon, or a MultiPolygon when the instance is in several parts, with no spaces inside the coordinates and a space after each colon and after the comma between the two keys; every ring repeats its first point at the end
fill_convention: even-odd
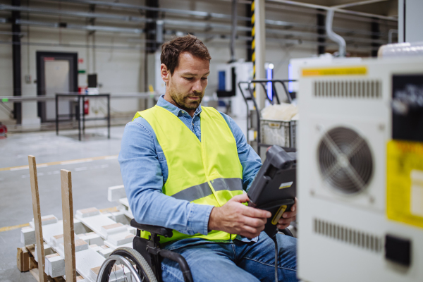
{"type": "MultiPolygon", "coordinates": [[[[133,248],[118,247],[104,261],[97,282],[162,282],[161,260],[163,258],[178,262],[185,282],[193,282],[190,266],[182,255],[169,250],[161,249],[159,235],[171,238],[173,231],[170,228],[140,224],[135,219],[130,226],[137,228],[137,235],[133,240],[133,248]],[[149,239],[141,238],[141,231],[151,233],[149,239]]],[[[288,228],[281,230],[285,235],[293,236],[288,228]]]]}

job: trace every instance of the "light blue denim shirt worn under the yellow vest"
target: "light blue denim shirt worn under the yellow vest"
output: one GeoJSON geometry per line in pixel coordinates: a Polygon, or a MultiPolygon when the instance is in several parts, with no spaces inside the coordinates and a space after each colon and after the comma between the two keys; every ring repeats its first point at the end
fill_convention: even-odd
{"type": "MultiPolygon", "coordinates": [[[[195,110],[193,118],[186,111],[167,102],[164,95],[159,98],[157,106],[178,116],[201,141],[201,106],[195,110]]],[[[243,188],[248,190],[262,161],[247,144],[242,130],[233,119],[220,114],[235,137],[238,157],[243,166],[243,188]]],[[[144,118],[135,118],[125,126],[118,161],[130,209],[137,222],[172,228],[188,235],[207,235],[212,205],[193,204],[162,192],[168,178],[168,166],[156,134],[144,118]]]]}

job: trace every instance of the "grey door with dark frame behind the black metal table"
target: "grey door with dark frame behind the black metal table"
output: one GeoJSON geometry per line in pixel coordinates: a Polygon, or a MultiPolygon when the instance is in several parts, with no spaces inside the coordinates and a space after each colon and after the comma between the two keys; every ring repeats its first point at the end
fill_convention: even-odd
{"type": "MultiPolygon", "coordinates": [[[[78,91],[78,54],[37,52],[37,95],[54,97],[58,92],[78,91]]],[[[39,102],[38,116],[42,122],[56,118],[55,102],[39,102]]],[[[71,119],[71,100],[59,100],[59,118],[71,119]]]]}

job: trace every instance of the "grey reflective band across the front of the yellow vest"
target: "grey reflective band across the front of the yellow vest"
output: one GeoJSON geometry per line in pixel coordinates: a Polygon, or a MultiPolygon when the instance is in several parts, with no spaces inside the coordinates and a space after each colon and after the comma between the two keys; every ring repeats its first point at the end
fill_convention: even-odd
{"type": "MultiPolygon", "coordinates": [[[[211,182],[215,191],[243,191],[243,180],[241,178],[216,178],[211,182]]],[[[200,185],[194,185],[190,188],[186,188],[185,190],[177,192],[176,194],[173,194],[172,197],[179,200],[187,200],[188,202],[192,202],[212,194],[212,188],[210,188],[208,182],[205,182],[200,185]]]]}

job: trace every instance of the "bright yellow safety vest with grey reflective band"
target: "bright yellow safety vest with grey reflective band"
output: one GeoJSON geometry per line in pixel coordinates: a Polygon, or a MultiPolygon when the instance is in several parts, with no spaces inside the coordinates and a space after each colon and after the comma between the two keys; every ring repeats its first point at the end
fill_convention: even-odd
{"type": "MultiPolygon", "coordinates": [[[[134,119],[140,116],[152,126],[166,157],[165,195],[221,207],[233,196],[243,194],[243,166],[236,141],[219,111],[202,106],[201,142],[183,121],[161,106],[138,111],[134,119]]],[[[141,232],[142,238],[148,235],[148,232],[141,232]]],[[[160,236],[160,243],[183,238],[229,240],[231,235],[223,231],[211,231],[207,235],[173,231],[172,238],[160,236]]]]}

